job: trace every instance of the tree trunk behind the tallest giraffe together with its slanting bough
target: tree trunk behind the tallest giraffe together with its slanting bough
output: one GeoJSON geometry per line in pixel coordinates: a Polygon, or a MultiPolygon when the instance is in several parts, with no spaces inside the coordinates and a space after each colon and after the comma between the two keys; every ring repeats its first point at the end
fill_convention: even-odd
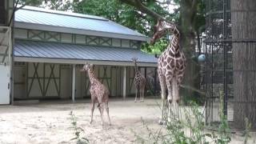
{"type": "MultiPolygon", "coordinates": [[[[125,2],[130,6],[136,7],[138,10],[142,11],[142,13],[149,14],[151,17],[155,19],[164,20],[161,15],[156,14],[153,10],[150,10],[146,6],[142,4],[140,0],[119,0],[120,2],[125,2]]],[[[181,25],[182,25],[182,50],[186,54],[187,65],[185,71],[185,78],[183,83],[185,83],[186,87],[190,87],[190,89],[181,90],[181,95],[183,96],[183,100],[193,99],[193,96],[197,96],[198,94],[194,93],[192,88],[199,88],[200,79],[198,77],[199,67],[192,62],[192,54],[195,48],[195,34],[194,34],[194,24],[195,24],[195,16],[197,14],[197,6],[198,0],[181,0],[181,25]]]]}

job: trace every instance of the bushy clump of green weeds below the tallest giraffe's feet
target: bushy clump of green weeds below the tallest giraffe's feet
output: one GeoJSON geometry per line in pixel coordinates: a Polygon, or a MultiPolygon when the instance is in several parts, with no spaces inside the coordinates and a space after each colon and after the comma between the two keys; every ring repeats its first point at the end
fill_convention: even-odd
{"type": "Polygon", "coordinates": [[[206,142],[207,135],[204,133],[203,114],[199,111],[199,107],[195,102],[190,102],[190,108],[185,108],[185,120],[171,118],[169,122],[166,119],[166,134],[162,133],[162,129],[156,132],[149,129],[145,122],[142,120],[143,126],[148,131],[148,138],[143,139],[141,136],[135,134],[139,142],[150,143],[173,143],[173,144],[198,144],[206,142]],[[189,130],[189,134],[185,131],[189,130]],[[153,142],[152,142],[153,141],[153,142]]]}

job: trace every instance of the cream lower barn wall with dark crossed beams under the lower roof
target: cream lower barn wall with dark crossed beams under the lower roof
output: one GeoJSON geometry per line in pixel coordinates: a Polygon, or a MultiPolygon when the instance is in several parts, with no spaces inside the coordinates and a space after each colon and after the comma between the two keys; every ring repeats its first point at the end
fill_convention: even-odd
{"type": "MultiPolygon", "coordinates": [[[[54,82],[53,75],[51,74],[50,66],[53,64],[50,63],[39,63],[38,64],[38,75],[35,74],[34,64],[36,63],[26,63],[22,66],[14,66],[14,98],[52,98],[58,97],[58,90],[56,89],[56,84],[58,89],[60,88],[60,96],[62,99],[71,98],[72,93],[72,67],[69,64],[55,64],[54,65],[54,78],[56,84],[54,82]],[[27,67],[26,67],[27,66],[27,67]],[[26,73],[26,70],[27,73],[26,73]],[[59,71],[60,70],[60,71],[59,71]],[[45,71],[45,73],[44,73],[45,71]],[[38,78],[37,78],[38,77],[38,78]],[[51,78],[50,78],[51,77],[51,78]],[[43,78],[45,82],[43,82],[43,78]],[[59,85],[60,81],[60,85],[59,85]],[[26,83],[27,82],[27,83],[26,83]],[[33,82],[30,90],[31,82],[33,82]],[[40,84],[39,84],[40,82],[40,84]],[[49,82],[49,84],[48,84],[49,82]],[[48,89],[46,90],[46,94],[43,95],[41,88],[46,90],[46,86],[48,89]],[[43,88],[43,86],[45,86],[43,88]],[[26,90],[30,90],[29,94],[26,94],[26,90]],[[27,97],[28,96],[28,97],[27,97]]],[[[81,72],[82,65],[76,66],[76,83],[75,83],[75,98],[84,98],[90,97],[90,83],[88,74],[86,72],[81,72]],[[88,88],[86,90],[86,88],[88,88]]],[[[154,68],[147,68],[146,70],[148,75],[154,75],[154,68]]],[[[144,75],[144,68],[141,68],[141,73],[144,75]]],[[[114,97],[122,97],[122,86],[123,86],[123,67],[122,66],[107,66],[106,69],[106,78],[104,77],[104,66],[94,66],[94,74],[95,76],[110,90],[111,96],[114,97]],[[112,74],[110,74],[112,71],[112,74]],[[103,80],[104,79],[104,80],[103,80]],[[109,82],[109,86],[107,85],[109,82]]],[[[126,67],[126,94],[134,95],[135,94],[135,86],[134,86],[134,67],[127,66],[126,67]],[[130,87],[131,86],[131,87],[130,87]]]]}

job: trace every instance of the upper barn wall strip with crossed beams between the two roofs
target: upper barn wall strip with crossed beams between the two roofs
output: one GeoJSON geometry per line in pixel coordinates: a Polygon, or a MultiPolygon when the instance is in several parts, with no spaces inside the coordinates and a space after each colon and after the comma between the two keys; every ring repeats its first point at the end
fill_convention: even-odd
{"type": "Polygon", "coordinates": [[[90,46],[113,46],[138,49],[140,42],[127,39],[95,37],[82,34],[67,34],[42,30],[14,29],[14,38],[43,42],[77,43],[90,46]]]}

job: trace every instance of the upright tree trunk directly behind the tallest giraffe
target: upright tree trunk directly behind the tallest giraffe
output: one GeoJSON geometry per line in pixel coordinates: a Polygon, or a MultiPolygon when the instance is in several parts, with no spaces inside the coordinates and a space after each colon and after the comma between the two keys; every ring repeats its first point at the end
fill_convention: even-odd
{"type": "MultiPolygon", "coordinates": [[[[193,58],[195,51],[195,31],[194,31],[194,10],[193,6],[188,0],[181,1],[181,24],[182,24],[182,51],[186,54],[187,65],[185,71],[185,78],[183,80],[186,87],[199,89],[198,72],[199,68],[193,58]]],[[[194,3],[196,5],[196,3],[194,3]]],[[[189,100],[198,100],[198,94],[192,89],[181,89],[182,99],[186,103],[189,100]]]]}

